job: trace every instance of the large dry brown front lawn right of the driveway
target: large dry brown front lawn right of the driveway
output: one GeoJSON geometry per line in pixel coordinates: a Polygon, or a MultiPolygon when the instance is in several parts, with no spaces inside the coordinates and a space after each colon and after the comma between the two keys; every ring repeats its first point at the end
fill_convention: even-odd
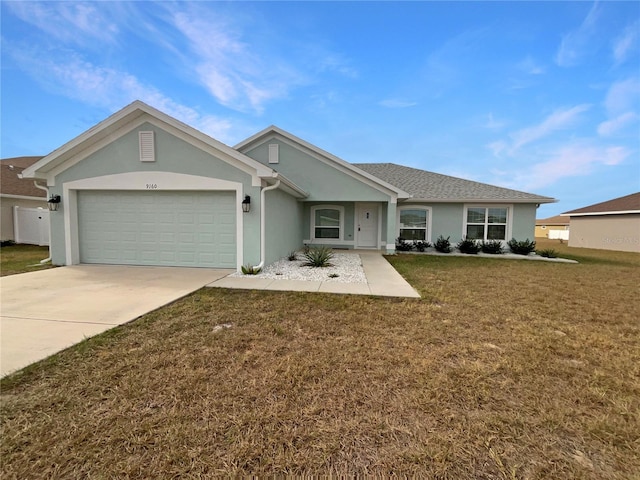
{"type": "Polygon", "coordinates": [[[390,259],[422,300],[203,289],[4,379],[2,478],[638,478],[640,256],[565,253],[390,259]]]}

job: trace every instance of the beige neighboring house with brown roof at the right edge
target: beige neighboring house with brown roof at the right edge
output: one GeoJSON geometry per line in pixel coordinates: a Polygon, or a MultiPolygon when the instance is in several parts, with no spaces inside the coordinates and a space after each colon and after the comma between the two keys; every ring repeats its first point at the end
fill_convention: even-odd
{"type": "Polygon", "coordinates": [[[562,214],[570,247],[640,252],[640,192],[562,214]]]}

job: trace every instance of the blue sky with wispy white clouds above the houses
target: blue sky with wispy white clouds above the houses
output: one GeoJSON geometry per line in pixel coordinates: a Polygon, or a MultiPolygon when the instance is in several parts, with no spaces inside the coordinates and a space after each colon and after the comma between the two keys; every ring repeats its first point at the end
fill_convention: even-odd
{"type": "Polygon", "coordinates": [[[638,2],[2,2],[2,158],[139,99],[229,145],[559,199],[640,190],[638,2]]]}

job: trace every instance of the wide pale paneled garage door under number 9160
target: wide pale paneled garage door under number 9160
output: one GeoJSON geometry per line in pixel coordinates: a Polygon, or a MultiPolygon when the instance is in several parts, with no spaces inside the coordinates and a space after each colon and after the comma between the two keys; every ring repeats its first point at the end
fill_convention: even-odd
{"type": "Polygon", "coordinates": [[[236,267],[235,192],[80,191],[80,262],[236,267]]]}

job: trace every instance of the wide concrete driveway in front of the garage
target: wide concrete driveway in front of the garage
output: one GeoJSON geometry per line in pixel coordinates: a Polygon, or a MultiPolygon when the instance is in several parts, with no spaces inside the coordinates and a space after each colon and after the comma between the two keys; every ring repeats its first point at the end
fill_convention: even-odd
{"type": "Polygon", "coordinates": [[[0,376],[130,322],[233,270],[74,265],[0,278],[0,376]]]}

